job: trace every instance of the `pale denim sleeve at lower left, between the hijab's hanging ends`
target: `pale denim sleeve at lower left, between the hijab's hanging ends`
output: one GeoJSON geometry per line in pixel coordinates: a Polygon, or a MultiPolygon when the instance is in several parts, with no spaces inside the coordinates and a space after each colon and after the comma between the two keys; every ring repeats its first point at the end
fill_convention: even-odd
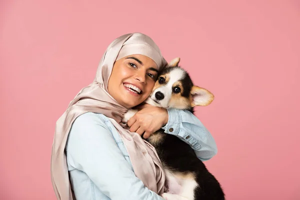
{"type": "Polygon", "coordinates": [[[135,176],[108,126],[94,113],[74,120],[66,151],[70,165],[85,172],[110,199],[163,199],[135,176]]]}

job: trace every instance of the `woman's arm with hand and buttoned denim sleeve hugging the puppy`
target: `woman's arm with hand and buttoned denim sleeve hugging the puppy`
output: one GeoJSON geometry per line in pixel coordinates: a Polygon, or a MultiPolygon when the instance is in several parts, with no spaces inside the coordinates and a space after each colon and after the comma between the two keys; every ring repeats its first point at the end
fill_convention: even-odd
{"type": "Polygon", "coordinates": [[[165,133],[176,135],[188,143],[202,161],[210,159],[217,152],[210,132],[195,115],[187,110],[164,109],[145,104],[128,120],[127,124],[132,132],[140,135],[144,132],[144,138],[162,127],[165,133]]]}

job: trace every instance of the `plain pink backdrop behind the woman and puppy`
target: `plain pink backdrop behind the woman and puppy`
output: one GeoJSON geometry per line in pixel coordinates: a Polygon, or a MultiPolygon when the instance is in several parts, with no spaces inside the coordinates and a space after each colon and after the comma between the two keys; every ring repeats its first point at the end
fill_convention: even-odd
{"type": "Polygon", "coordinates": [[[214,93],[196,115],[227,199],[300,199],[297,0],[1,0],[0,199],[55,199],[55,121],[107,45],[134,31],[214,93]]]}

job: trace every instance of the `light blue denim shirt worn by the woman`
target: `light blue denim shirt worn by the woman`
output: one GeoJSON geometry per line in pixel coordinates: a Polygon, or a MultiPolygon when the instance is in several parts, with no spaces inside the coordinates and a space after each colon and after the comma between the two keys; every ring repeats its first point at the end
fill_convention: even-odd
{"type": "MultiPolygon", "coordinates": [[[[197,117],[185,110],[167,111],[165,133],[188,143],[201,160],[216,154],[213,137],[197,117]]],[[[78,116],[68,134],[65,152],[77,200],[163,199],[135,176],[116,128],[103,114],[86,112],[78,116]]]]}

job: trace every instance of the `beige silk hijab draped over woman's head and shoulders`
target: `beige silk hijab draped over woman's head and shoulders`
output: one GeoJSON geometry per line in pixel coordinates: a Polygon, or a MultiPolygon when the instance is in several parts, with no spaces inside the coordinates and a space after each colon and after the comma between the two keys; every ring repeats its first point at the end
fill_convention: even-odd
{"type": "Polygon", "coordinates": [[[142,33],[125,34],[109,44],[100,60],[93,82],[79,91],[56,121],[51,154],[51,181],[57,199],[74,199],[64,148],[73,121],[85,112],[102,113],[111,120],[128,151],[135,175],[150,190],[158,194],[163,193],[165,175],[154,147],[144,141],[139,134],[130,132],[120,125],[123,113],[127,109],[107,92],[108,79],[114,62],[130,54],[148,56],[159,68],[167,64],[154,41],[142,33]]]}

